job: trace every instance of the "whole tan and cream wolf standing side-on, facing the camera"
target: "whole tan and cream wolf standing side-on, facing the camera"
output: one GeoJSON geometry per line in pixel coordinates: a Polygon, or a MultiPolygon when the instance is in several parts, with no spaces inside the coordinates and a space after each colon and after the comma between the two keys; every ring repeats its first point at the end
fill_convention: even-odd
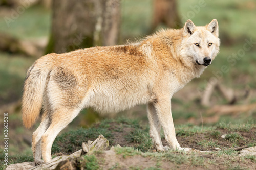
{"type": "Polygon", "coordinates": [[[58,133],[88,107],[113,113],[147,104],[155,148],[181,150],[171,98],[202,74],[217,56],[219,46],[216,19],[198,27],[187,20],[181,29],[161,30],[137,43],[42,56],[27,71],[22,99],[26,128],[41,116],[32,135],[35,164],[51,160],[58,133]],[[167,146],[161,141],[161,127],[167,146]]]}

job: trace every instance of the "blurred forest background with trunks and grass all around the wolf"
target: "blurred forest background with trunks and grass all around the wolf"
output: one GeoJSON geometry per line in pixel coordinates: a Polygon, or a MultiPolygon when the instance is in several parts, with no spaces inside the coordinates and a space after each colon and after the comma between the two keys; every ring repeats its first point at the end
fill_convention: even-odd
{"type": "MultiPolygon", "coordinates": [[[[200,26],[216,18],[221,47],[203,75],[174,95],[175,126],[255,123],[255,16],[255,0],[0,0],[0,112],[9,115],[9,155],[32,154],[31,136],[39,121],[31,130],[22,126],[20,99],[26,70],[36,59],[133,42],[161,28],[181,28],[187,19],[200,26]]],[[[69,129],[105,118],[92,112],[83,110],[69,129]]],[[[112,117],[123,115],[147,124],[144,105],[112,117]]],[[[3,142],[0,146],[2,151],[3,142]]]]}

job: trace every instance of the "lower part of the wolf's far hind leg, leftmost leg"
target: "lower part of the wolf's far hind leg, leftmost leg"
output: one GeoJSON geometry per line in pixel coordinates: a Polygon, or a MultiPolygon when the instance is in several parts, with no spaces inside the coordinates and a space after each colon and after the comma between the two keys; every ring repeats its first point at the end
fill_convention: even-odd
{"type": "Polygon", "coordinates": [[[35,132],[33,132],[32,135],[32,152],[36,165],[44,163],[44,161],[42,161],[40,143],[42,135],[46,132],[46,126],[48,124],[48,121],[48,119],[42,120],[39,127],[36,129],[35,132]]]}

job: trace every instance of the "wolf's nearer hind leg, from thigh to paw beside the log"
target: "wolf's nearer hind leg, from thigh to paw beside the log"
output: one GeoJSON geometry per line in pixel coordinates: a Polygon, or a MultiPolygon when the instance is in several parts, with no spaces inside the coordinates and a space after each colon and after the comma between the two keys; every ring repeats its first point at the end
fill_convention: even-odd
{"type": "Polygon", "coordinates": [[[49,162],[52,159],[52,144],[59,132],[64,129],[79,113],[79,109],[58,109],[51,117],[51,124],[41,138],[42,159],[49,162]]]}

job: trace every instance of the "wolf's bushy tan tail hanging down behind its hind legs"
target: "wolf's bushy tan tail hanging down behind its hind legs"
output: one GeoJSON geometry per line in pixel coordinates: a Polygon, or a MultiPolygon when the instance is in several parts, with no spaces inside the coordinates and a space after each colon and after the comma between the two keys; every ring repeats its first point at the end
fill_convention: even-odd
{"type": "Polygon", "coordinates": [[[46,78],[52,67],[52,58],[53,54],[41,57],[27,72],[22,98],[22,119],[26,128],[31,128],[39,117],[46,78]]]}

